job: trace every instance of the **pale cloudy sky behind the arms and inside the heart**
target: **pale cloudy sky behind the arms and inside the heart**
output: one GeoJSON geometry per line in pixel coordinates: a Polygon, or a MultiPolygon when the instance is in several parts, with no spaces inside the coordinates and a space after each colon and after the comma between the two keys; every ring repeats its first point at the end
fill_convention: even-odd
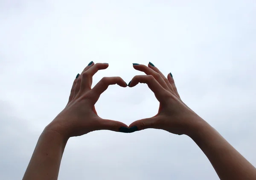
{"type": "MultiPolygon", "coordinates": [[[[77,73],[172,72],[183,101],[256,166],[256,1],[0,0],[0,179],[21,179],[44,127],[65,107],[77,73]]],[[[96,110],[131,124],[157,113],[145,84],[109,87],[96,110]]],[[[60,180],[215,180],[187,136],[156,129],[70,138],[60,180]]]]}

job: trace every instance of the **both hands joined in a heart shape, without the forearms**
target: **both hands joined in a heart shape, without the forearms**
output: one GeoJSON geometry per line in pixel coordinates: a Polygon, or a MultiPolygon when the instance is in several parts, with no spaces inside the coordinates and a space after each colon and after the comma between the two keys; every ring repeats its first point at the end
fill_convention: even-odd
{"type": "Polygon", "coordinates": [[[195,130],[195,124],[201,118],[198,118],[199,116],[181,101],[171,73],[166,78],[152,63],[149,63],[148,66],[134,64],[133,67],[146,75],[134,76],[128,85],[120,77],[104,77],[95,87],[91,88],[93,75],[98,70],[108,68],[108,64],[89,63],[81,75],[78,74],[79,76],[74,80],[67,106],[45,130],[58,132],[65,138],[102,129],[134,132],[154,128],[178,135],[188,135],[189,132],[195,130]],[[134,121],[129,127],[122,122],[102,119],[97,115],[94,104],[109,85],[118,84],[121,87],[134,87],[138,83],[148,84],[160,102],[157,115],[134,121]]]}

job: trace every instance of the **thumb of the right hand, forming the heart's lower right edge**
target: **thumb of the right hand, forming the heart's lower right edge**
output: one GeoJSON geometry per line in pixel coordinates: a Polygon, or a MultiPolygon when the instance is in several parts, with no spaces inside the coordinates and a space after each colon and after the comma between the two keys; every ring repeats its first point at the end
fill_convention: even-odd
{"type": "MultiPolygon", "coordinates": [[[[154,128],[154,129],[159,129],[157,128],[157,123],[159,122],[159,117],[155,116],[152,118],[145,118],[145,119],[140,119],[137,121],[134,121],[132,124],[130,124],[129,128],[131,129],[137,129],[135,131],[140,131],[143,129],[148,129],[148,128],[154,128]]],[[[134,131],[133,131],[134,132],[134,131]]]]}

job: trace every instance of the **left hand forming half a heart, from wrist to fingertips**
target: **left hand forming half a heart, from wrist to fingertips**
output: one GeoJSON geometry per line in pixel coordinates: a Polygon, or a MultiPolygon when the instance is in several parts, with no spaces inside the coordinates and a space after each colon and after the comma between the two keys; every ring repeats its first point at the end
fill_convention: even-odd
{"type": "MultiPolygon", "coordinates": [[[[64,110],[45,128],[64,135],[65,138],[84,135],[88,132],[107,129],[119,131],[127,125],[97,115],[94,104],[110,84],[127,87],[120,77],[104,77],[91,89],[92,77],[98,71],[108,68],[106,63],[89,64],[73,82],[69,101],[64,110]]],[[[78,74],[79,75],[79,74],[78,74]]]]}

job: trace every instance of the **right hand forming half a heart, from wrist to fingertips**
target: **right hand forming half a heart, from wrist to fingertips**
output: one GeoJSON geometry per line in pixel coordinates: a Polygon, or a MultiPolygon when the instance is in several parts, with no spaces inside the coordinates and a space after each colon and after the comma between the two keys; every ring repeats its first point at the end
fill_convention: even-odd
{"type": "Polygon", "coordinates": [[[136,130],[147,128],[163,129],[177,135],[187,134],[196,129],[196,125],[204,121],[180,99],[171,73],[167,79],[152,63],[145,65],[134,64],[134,69],[146,75],[134,76],[129,87],[136,86],[139,82],[148,84],[160,102],[157,115],[133,122],[129,127],[136,130]]]}

